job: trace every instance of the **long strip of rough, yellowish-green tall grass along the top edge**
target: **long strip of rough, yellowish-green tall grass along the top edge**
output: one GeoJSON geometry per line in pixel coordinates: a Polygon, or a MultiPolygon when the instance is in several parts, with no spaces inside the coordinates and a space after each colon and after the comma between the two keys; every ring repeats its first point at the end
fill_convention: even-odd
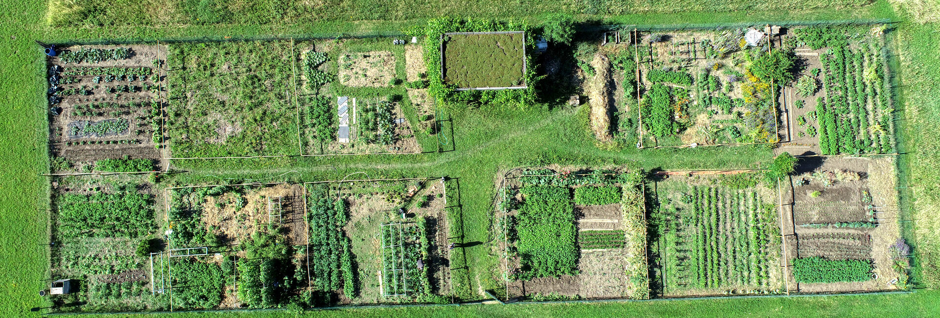
{"type": "Polygon", "coordinates": [[[440,16],[493,18],[538,16],[551,12],[624,15],[688,11],[766,11],[844,9],[868,6],[872,0],[49,0],[47,23],[81,25],[267,24],[306,21],[364,21],[428,19],[440,16]]]}

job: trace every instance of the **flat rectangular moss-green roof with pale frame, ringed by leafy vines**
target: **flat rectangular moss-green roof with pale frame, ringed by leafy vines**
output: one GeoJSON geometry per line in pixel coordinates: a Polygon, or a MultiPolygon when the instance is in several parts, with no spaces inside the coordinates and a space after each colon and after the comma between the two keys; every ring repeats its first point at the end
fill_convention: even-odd
{"type": "Polygon", "coordinates": [[[525,34],[444,36],[444,83],[458,88],[525,86],[525,34]]]}

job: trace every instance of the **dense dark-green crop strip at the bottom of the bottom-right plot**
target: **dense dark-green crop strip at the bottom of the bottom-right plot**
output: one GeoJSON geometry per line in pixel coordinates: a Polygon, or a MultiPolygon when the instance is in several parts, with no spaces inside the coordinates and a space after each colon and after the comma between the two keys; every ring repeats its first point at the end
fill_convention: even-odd
{"type": "Polygon", "coordinates": [[[839,282],[871,280],[870,260],[827,260],[822,257],[793,260],[793,276],[798,282],[839,282]]]}

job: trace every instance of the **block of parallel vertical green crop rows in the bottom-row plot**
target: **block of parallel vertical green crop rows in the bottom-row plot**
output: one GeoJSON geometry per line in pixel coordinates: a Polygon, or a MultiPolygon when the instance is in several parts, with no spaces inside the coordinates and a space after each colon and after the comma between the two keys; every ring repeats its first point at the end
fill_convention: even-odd
{"type": "Polygon", "coordinates": [[[693,187],[655,218],[667,293],[775,290],[776,215],[754,190],[693,187]]]}

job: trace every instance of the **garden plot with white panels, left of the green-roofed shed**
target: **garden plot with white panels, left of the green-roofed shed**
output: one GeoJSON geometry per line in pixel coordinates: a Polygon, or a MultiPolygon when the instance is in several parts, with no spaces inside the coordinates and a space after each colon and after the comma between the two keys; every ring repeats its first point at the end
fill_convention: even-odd
{"type": "Polygon", "coordinates": [[[401,85],[406,77],[402,46],[370,38],[299,42],[295,47],[308,92],[298,98],[304,155],[421,151],[411,124],[413,104],[401,85]],[[356,70],[360,68],[368,71],[356,70]],[[350,72],[359,74],[351,78],[350,72]],[[382,82],[362,82],[361,76],[379,78],[368,74],[382,74],[382,82]]]}

